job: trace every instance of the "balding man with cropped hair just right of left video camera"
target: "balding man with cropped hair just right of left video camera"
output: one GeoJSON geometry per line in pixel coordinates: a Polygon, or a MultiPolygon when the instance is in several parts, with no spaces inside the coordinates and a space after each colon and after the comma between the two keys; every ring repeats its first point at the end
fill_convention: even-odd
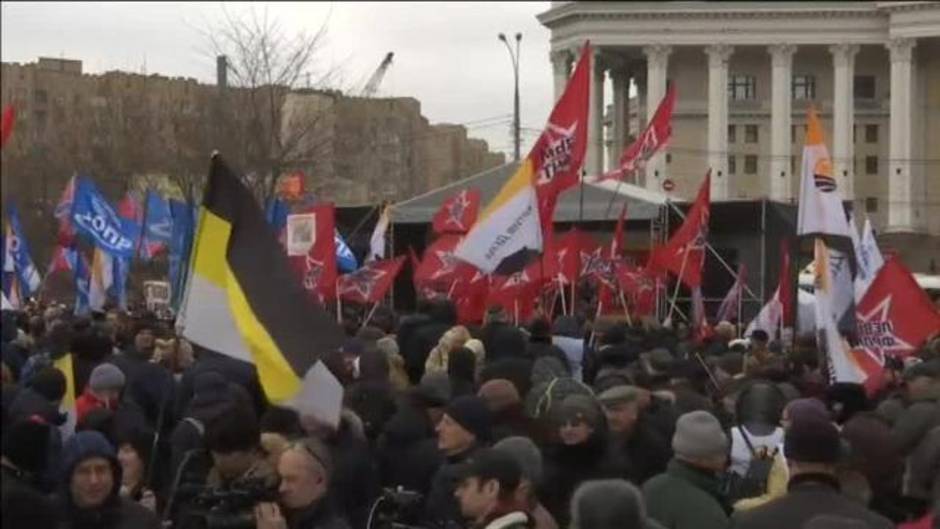
{"type": "Polygon", "coordinates": [[[258,529],[349,529],[334,510],[329,486],[330,450],[316,439],[290,444],[278,460],[278,503],[255,507],[258,529]]]}

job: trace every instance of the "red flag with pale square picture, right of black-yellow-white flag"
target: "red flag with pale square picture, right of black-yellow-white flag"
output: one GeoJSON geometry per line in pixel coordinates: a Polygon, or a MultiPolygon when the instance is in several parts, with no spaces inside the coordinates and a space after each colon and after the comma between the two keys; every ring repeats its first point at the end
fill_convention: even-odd
{"type": "Polygon", "coordinates": [[[320,203],[288,216],[287,230],[293,238],[311,241],[310,249],[288,259],[307,294],[321,304],[336,299],[336,210],[332,203],[320,203]],[[311,218],[312,217],[312,218],[311,218]],[[294,232],[300,232],[294,235],[294,232]],[[310,233],[312,231],[312,233],[310,233]]]}

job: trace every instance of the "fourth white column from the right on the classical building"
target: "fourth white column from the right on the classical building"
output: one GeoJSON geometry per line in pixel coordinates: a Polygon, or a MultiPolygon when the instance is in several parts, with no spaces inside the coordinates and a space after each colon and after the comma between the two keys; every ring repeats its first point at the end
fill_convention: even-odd
{"type": "Polygon", "coordinates": [[[705,47],[708,55],[708,166],[712,170],[712,200],[726,200],[728,178],[728,60],[734,48],[725,44],[705,47]]]}

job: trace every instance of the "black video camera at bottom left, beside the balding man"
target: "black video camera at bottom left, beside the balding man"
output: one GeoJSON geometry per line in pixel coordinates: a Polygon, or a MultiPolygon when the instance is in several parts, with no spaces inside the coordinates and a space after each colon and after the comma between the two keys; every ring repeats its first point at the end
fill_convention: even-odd
{"type": "Polygon", "coordinates": [[[261,480],[248,480],[229,487],[180,487],[188,498],[180,529],[254,529],[255,505],[275,502],[276,487],[261,480]]]}

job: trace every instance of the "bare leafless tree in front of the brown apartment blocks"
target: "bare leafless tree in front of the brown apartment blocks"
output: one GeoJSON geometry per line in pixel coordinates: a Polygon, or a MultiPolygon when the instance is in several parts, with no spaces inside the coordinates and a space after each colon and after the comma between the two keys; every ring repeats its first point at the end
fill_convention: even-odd
{"type": "Polygon", "coordinates": [[[223,20],[206,31],[214,56],[228,60],[231,89],[220,88],[220,124],[228,138],[217,143],[245,173],[264,203],[285,172],[310,170],[329,148],[328,88],[336,70],[318,64],[326,23],[313,33],[288,33],[266,11],[223,20]]]}

